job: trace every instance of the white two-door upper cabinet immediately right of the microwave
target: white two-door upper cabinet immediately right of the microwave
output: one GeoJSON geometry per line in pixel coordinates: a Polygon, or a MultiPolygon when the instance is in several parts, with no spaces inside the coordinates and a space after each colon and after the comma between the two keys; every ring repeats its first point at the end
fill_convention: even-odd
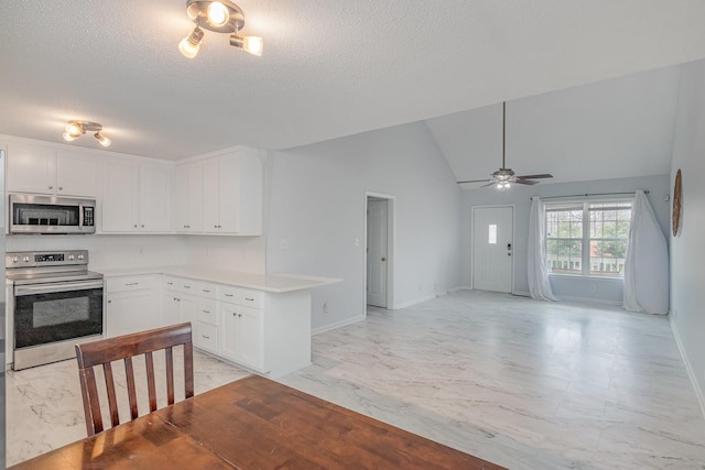
{"type": "Polygon", "coordinates": [[[171,231],[171,168],[129,160],[104,165],[102,232],[171,231]]]}

